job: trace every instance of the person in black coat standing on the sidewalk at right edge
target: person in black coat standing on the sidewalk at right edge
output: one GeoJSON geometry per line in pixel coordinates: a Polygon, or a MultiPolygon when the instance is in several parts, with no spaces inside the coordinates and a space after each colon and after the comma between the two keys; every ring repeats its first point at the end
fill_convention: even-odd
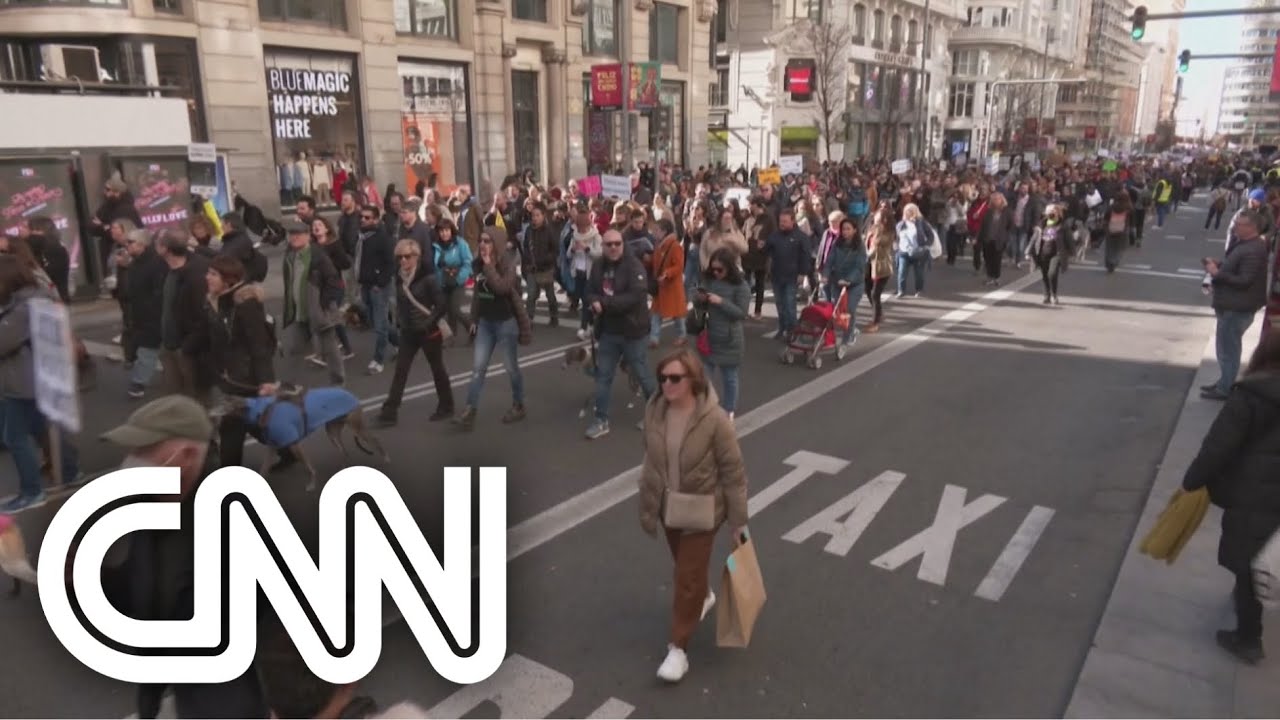
{"type": "Polygon", "coordinates": [[[1222,507],[1217,564],[1235,575],[1235,629],[1219,630],[1217,644],[1249,665],[1265,657],[1262,603],[1252,565],[1280,530],[1277,445],[1280,333],[1266,333],[1183,477],[1183,489],[1208,488],[1213,503],[1222,507]]]}

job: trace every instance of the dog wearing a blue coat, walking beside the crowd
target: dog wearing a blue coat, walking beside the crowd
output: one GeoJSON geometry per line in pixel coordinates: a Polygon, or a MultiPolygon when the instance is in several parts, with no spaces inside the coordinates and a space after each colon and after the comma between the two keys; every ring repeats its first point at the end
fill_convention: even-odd
{"type": "MultiPolygon", "coordinates": [[[[307,492],[316,489],[316,469],[302,452],[302,441],[320,428],[324,428],[344,460],[351,460],[343,443],[343,430],[348,429],[356,447],[366,455],[376,454],[383,462],[390,460],[381,441],[369,432],[360,398],[346,388],[303,389],[291,386],[268,397],[228,397],[215,415],[238,415],[250,427],[255,439],[265,447],[293,454],[311,474],[307,492]]],[[[273,454],[268,454],[262,461],[262,477],[270,471],[273,461],[273,454]]]]}

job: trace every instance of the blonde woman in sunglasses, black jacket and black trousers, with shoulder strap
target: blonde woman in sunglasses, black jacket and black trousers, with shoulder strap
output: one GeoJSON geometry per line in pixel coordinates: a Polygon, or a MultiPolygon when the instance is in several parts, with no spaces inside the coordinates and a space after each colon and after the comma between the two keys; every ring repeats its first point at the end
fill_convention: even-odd
{"type": "MultiPolygon", "coordinates": [[[[453,383],[444,369],[444,334],[440,320],[448,313],[448,302],[439,277],[430,261],[422,259],[422,246],[416,240],[404,238],[396,243],[396,322],[399,325],[399,355],[387,400],[378,414],[384,425],[394,425],[399,414],[404,383],[413,368],[413,356],[421,350],[431,365],[438,405],[431,414],[433,423],[453,416],[453,383]]],[[[448,329],[448,325],[443,325],[448,329]]]]}

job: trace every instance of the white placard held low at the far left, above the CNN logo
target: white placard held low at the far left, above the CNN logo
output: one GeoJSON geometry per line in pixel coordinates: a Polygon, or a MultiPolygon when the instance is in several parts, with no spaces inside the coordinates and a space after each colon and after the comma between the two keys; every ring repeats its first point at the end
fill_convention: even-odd
{"type": "Polygon", "coordinates": [[[44,297],[32,299],[31,355],[35,365],[36,406],[63,428],[81,430],[79,382],[72,319],[67,306],[44,297]]]}

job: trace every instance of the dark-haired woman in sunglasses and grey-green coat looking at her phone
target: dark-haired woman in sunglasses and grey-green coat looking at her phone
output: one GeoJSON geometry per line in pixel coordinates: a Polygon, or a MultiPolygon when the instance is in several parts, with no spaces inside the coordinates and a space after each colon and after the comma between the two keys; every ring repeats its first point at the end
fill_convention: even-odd
{"type": "Polygon", "coordinates": [[[728,247],[721,247],[707,263],[703,286],[694,296],[694,307],[707,313],[707,327],[703,329],[705,342],[698,340],[698,350],[707,363],[707,374],[719,370],[721,407],[733,419],[737,410],[739,374],[746,346],[742,320],[746,319],[751,302],[751,288],[742,278],[737,266],[737,254],[728,247]]]}

